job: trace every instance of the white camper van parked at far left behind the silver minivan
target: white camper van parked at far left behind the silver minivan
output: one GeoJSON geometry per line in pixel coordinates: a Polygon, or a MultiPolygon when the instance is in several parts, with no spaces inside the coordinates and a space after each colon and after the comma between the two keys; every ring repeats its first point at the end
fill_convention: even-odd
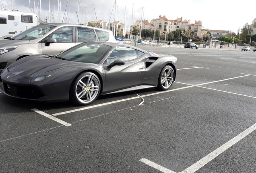
{"type": "Polygon", "coordinates": [[[37,24],[35,13],[0,10],[0,38],[15,36],[37,24]]]}

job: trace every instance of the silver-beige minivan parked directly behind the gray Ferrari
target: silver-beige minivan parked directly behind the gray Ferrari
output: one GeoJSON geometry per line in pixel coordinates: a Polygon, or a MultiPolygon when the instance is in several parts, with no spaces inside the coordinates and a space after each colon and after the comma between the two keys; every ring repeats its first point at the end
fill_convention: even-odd
{"type": "Polygon", "coordinates": [[[16,36],[0,39],[0,72],[12,62],[32,54],[58,54],[87,41],[116,42],[112,31],[75,24],[48,23],[16,36]]]}

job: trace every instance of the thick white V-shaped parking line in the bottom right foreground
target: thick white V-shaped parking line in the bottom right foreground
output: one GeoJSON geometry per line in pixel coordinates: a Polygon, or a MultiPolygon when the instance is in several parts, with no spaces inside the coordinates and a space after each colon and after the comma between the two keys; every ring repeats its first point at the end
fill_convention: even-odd
{"type": "MultiPolygon", "coordinates": [[[[216,150],[212,151],[211,153],[209,153],[208,155],[206,155],[205,157],[203,157],[202,159],[200,159],[199,161],[197,161],[196,163],[194,163],[193,165],[191,165],[190,167],[188,167],[187,169],[185,169],[182,172],[178,172],[178,173],[194,173],[196,172],[198,169],[200,169],[201,167],[203,167],[204,165],[206,165],[207,163],[209,163],[210,161],[212,161],[213,159],[215,159],[217,156],[219,156],[221,153],[223,153],[224,151],[226,151],[227,149],[229,149],[230,147],[232,147],[233,145],[235,145],[237,142],[241,141],[242,139],[244,139],[247,135],[249,135],[250,133],[252,133],[254,130],[256,130],[256,123],[254,125],[252,125],[251,127],[249,127],[248,129],[246,129],[245,131],[243,131],[242,133],[240,133],[239,135],[237,135],[236,137],[234,137],[233,139],[227,141],[225,144],[221,145],[219,148],[217,148],[216,150]]],[[[149,161],[145,158],[140,159],[141,162],[154,167],[155,169],[161,168],[162,166],[149,161]]],[[[159,171],[162,171],[163,173],[175,173],[169,169],[158,169],[159,171]]]]}

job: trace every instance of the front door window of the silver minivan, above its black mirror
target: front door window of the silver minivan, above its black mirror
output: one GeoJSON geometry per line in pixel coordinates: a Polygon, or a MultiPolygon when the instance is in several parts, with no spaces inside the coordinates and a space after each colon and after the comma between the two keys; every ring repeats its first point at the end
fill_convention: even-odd
{"type": "Polygon", "coordinates": [[[56,38],[58,42],[73,42],[73,27],[64,27],[54,31],[50,37],[56,38]]]}

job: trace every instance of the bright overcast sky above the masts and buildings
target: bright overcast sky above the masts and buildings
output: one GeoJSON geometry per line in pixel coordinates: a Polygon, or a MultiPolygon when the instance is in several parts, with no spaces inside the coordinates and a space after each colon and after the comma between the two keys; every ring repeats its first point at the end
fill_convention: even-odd
{"type": "MultiPolygon", "coordinates": [[[[30,12],[35,2],[35,13],[39,16],[39,0],[0,0],[1,5],[5,5],[5,8],[8,4],[9,10],[12,1],[14,2],[14,9],[30,12]]],[[[49,0],[41,0],[42,20],[45,20],[45,15],[49,15],[48,2],[49,0]]],[[[83,23],[85,23],[86,18],[87,21],[96,21],[97,18],[97,20],[113,22],[115,2],[116,20],[124,23],[126,19],[126,25],[129,26],[132,25],[132,21],[134,23],[140,18],[150,22],[153,18],[159,18],[159,15],[165,15],[169,20],[182,17],[183,20],[190,20],[190,23],[194,23],[195,20],[202,21],[202,28],[205,29],[231,30],[237,33],[238,28],[242,28],[246,23],[252,24],[256,18],[255,0],[50,0],[52,13],[55,12],[55,21],[58,21],[58,2],[61,2],[62,11],[59,15],[60,21],[62,22],[67,2],[69,2],[70,22],[75,24],[77,23],[77,15],[79,22],[83,19],[83,23]],[[79,11],[78,2],[80,2],[79,11]],[[250,9],[250,7],[252,8],[250,9]]]]}

